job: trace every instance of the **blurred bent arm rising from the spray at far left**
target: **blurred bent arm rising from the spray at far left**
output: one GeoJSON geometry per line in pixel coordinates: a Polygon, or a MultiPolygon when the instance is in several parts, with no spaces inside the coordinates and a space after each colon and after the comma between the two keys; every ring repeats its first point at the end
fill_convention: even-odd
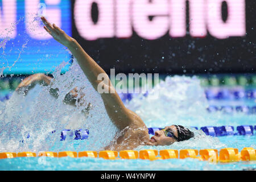
{"type": "Polygon", "coordinates": [[[33,88],[37,83],[48,85],[51,82],[51,77],[44,75],[43,73],[37,73],[31,76],[28,76],[20,82],[15,91],[18,91],[21,88],[28,87],[28,89],[33,88]]]}

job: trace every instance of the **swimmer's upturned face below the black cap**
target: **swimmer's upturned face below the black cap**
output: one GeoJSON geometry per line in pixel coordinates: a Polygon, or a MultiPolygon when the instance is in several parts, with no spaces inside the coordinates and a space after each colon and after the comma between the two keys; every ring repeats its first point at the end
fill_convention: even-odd
{"type": "MultiPolygon", "coordinates": [[[[165,130],[170,129],[174,133],[175,137],[177,137],[177,129],[174,125],[166,126],[166,127],[164,127],[164,129],[165,130]]],[[[151,139],[150,139],[150,143],[154,146],[166,146],[166,145],[170,145],[174,142],[177,142],[177,140],[172,137],[167,137],[164,134],[163,130],[156,131],[155,136],[151,137],[151,139]]]]}

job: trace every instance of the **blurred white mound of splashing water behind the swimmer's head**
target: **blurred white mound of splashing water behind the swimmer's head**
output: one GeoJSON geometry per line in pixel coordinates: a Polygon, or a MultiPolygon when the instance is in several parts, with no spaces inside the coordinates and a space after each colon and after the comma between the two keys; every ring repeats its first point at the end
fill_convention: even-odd
{"type": "Polygon", "coordinates": [[[127,107],[139,114],[148,127],[198,126],[208,115],[208,101],[195,76],[167,76],[150,90],[148,97],[134,98],[127,107]],[[159,96],[152,100],[154,92],[159,96]]]}

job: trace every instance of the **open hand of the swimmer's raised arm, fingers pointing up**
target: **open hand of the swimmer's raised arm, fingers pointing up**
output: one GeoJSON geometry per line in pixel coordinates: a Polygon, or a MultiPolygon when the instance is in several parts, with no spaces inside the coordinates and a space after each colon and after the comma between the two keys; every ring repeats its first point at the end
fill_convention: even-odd
{"type": "Polygon", "coordinates": [[[57,27],[54,23],[49,23],[44,16],[42,16],[41,19],[45,24],[44,29],[49,33],[49,35],[51,35],[53,39],[57,40],[57,42],[63,44],[63,46],[68,47],[69,43],[72,42],[72,38],[59,27],[57,27]]]}

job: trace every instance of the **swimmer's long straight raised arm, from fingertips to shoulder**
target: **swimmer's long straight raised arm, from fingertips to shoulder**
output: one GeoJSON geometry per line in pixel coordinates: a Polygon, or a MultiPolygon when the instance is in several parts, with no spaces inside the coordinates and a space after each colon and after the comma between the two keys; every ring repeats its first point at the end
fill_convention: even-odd
{"type": "Polygon", "coordinates": [[[67,34],[55,24],[51,24],[47,21],[46,18],[42,17],[43,23],[46,25],[44,29],[52,35],[52,37],[57,40],[57,42],[63,44],[64,46],[68,47],[69,51],[72,52],[73,56],[75,56],[77,62],[79,63],[82,71],[84,72],[85,76],[88,78],[90,83],[92,84],[93,88],[97,90],[98,84],[102,84],[102,80],[98,80],[98,75],[104,74],[105,79],[108,80],[106,83],[102,84],[105,89],[108,89],[108,93],[101,93],[102,100],[104,101],[104,105],[106,111],[112,119],[115,126],[118,129],[124,129],[126,126],[131,126],[134,124],[134,121],[137,121],[138,126],[140,124],[144,124],[143,121],[138,117],[138,115],[132,113],[130,110],[126,109],[125,105],[123,105],[122,100],[119,98],[117,92],[111,81],[106,75],[106,72],[90,57],[84,49],[80,46],[80,44],[67,34]]]}

